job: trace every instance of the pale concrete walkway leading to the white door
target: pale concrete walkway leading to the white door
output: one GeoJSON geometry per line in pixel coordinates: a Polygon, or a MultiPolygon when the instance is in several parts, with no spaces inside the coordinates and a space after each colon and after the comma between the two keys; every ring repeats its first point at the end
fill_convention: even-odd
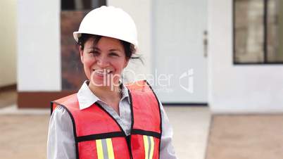
{"type": "Polygon", "coordinates": [[[204,159],[210,126],[208,107],[165,107],[174,130],[173,144],[180,159],[204,159]]]}

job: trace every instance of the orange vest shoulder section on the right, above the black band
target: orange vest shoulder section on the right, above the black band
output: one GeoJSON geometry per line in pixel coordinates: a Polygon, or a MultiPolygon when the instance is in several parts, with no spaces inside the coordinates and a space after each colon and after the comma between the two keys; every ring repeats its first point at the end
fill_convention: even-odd
{"type": "Polygon", "coordinates": [[[132,104],[133,132],[161,134],[161,108],[149,83],[141,80],[126,86],[130,91],[132,104]]]}

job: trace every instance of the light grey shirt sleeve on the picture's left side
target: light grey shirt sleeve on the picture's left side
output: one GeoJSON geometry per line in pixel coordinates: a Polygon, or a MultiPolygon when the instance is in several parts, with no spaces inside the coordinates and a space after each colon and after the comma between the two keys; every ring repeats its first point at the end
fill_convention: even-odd
{"type": "Polygon", "coordinates": [[[51,115],[47,139],[47,159],[75,159],[73,123],[65,108],[58,106],[51,115]]]}

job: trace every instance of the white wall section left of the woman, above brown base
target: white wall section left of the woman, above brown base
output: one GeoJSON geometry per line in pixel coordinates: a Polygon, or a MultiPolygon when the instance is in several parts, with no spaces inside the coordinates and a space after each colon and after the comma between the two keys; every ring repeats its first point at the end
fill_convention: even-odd
{"type": "Polygon", "coordinates": [[[60,91],[60,1],[17,2],[18,91],[60,91]]]}

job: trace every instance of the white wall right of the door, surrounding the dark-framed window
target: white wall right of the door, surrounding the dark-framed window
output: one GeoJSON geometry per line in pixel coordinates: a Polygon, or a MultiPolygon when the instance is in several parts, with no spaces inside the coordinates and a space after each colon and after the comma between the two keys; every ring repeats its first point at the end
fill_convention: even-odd
{"type": "Polygon", "coordinates": [[[233,65],[232,0],[210,0],[208,10],[213,113],[282,113],[283,65],[233,65]]]}

